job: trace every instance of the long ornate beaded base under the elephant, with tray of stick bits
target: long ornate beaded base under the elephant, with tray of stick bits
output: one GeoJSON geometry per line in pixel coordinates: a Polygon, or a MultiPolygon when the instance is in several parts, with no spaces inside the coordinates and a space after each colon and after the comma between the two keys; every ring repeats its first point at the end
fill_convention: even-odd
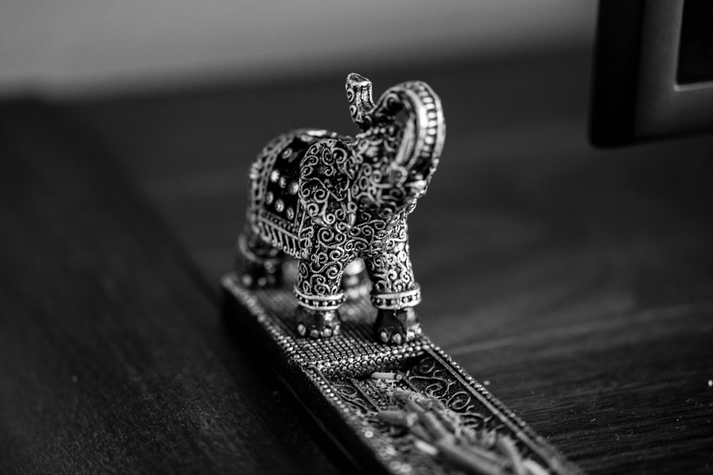
{"type": "Polygon", "coordinates": [[[305,407],[364,469],[390,474],[580,474],[425,335],[374,340],[376,310],[359,296],[342,331],[301,337],[291,286],[247,290],[222,278],[225,318],[247,331],[305,407]]]}

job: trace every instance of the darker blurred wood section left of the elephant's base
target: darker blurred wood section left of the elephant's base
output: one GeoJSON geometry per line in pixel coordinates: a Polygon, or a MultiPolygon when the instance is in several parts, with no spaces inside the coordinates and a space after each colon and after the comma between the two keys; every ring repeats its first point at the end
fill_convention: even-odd
{"type": "Polygon", "coordinates": [[[0,114],[0,472],[339,473],[106,151],[0,114]]]}

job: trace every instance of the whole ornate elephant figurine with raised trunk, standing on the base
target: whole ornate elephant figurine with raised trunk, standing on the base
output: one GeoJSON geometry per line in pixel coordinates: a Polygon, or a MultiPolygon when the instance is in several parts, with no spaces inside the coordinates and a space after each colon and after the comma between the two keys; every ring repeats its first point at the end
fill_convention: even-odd
{"type": "Polygon", "coordinates": [[[361,129],[354,137],[293,130],[258,155],[237,266],[244,286],[275,286],[284,259],[299,259],[297,332],[327,338],[339,333],[344,271],[361,259],[375,338],[398,345],[421,333],[406,217],[438,166],[443,109],[421,81],[395,85],[374,103],[371,81],[356,73],[347,76],[347,100],[361,129]]]}

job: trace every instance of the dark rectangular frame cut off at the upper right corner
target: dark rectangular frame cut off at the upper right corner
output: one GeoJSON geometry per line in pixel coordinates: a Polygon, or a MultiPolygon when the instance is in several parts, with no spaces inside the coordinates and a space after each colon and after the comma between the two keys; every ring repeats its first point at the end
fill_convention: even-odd
{"type": "Polygon", "coordinates": [[[600,0],[593,145],[713,128],[713,28],[700,27],[710,25],[707,16],[713,19],[709,0],[600,0]]]}

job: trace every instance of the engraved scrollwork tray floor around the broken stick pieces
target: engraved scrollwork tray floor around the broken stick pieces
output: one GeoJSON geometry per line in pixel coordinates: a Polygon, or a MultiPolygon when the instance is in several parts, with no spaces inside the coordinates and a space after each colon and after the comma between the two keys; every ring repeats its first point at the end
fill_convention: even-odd
{"type": "MultiPolygon", "coordinates": [[[[418,451],[409,451],[409,448],[413,447],[415,432],[409,428],[417,420],[423,419],[416,417],[415,413],[411,414],[411,419],[408,416],[409,411],[424,409],[436,411],[440,414],[439,418],[448,421],[451,431],[455,434],[467,434],[470,443],[480,447],[479,453],[482,454],[483,450],[489,451],[488,454],[491,454],[493,460],[504,460],[501,454],[498,454],[497,447],[501,446],[498,446],[496,441],[505,438],[511,441],[508,443],[511,443],[520,459],[530,459],[530,465],[536,464],[539,467],[548,465],[548,459],[543,457],[540,451],[533,450],[535,446],[529,434],[523,432],[523,424],[506,424],[504,421],[507,417],[503,417],[492,405],[485,404],[483,394],[478,394],[473,387],[464,384],[453,367],[444,364],[436,355],[423,355],[404,361],[400,372],[374,374],[386,377],[398,375],[399,378],[384,382],[372,375],[359,380],[333,380],[330,387],[354,414],[359,414],[362,420],[368,422],[367,427],[372,432],[379,432],[383,441],[391,447],[396,447],[406,459],[417,461],[418,464],[424,463],[424,459],[416,456],[418,451]],[[404,404],[407,400],[418,404],[404,404]],[[421,409],[418,409],[419,407],[421,409]]],[[[419,437],[422,436],[416,438],[419,437]]],[[[461,442],[465,444],[463,441],[461,442]]],[[[508,465],[491,468],[492,472],[481,466],[484,471],[478,473],[517,473],[513,466],[508,465]]],[[[424,466],[426,473],[432,469],[433,466],[424,466]]]]}

